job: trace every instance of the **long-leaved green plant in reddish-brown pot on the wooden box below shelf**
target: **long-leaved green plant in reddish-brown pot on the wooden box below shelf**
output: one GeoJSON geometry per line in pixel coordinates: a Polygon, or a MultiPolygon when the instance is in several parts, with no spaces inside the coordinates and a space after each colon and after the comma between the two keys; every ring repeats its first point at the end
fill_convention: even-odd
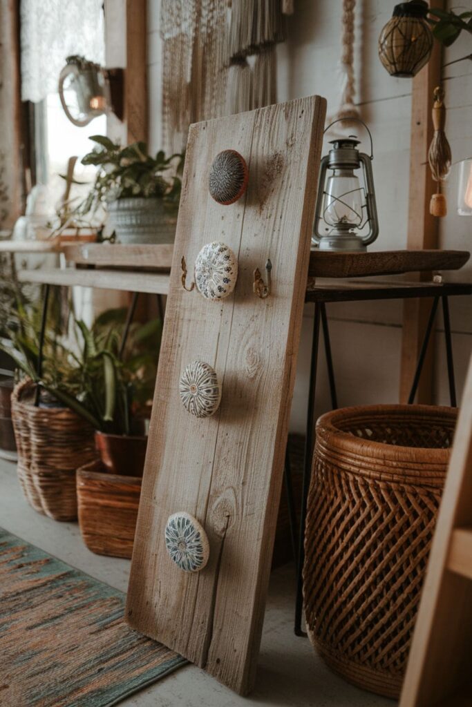
{"type": "Polygon", "coordinates": [[[96,449],[109,472],[141,476],[146,455],[147,405],[154,392],[161,320],[129,327],[122,351],[126,310],[107,310],[92,327],[77,321],[81,354],[76,356],[80,390],[60,381],[55,397],[95,428],[96,449]]]}

